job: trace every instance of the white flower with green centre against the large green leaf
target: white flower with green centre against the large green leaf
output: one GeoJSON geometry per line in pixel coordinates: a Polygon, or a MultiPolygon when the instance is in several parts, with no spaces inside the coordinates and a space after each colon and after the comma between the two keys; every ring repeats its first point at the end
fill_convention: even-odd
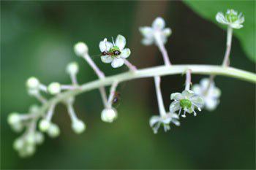
{"type": "Polygon", "coordinates": [[[242,23],[244,23],[244,15],[242,15],[242,13],[238,15],[238,12],[234,9],[227,9],[225,15],[222,12],[218,12],[216,20],[219,23],[230,26],[231,28],[239,29],[243,27],[242,23]]]}

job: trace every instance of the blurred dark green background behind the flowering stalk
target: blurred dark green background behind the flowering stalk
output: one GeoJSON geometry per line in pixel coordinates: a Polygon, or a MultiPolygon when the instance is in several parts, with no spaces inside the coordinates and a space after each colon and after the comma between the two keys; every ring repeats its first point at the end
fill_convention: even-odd
{"type": "MultiPolygon", "coordinates": [[[[1,1],[1,169],[255,169],[255,85],[227,77],[216,78],[222,96],[214,112],[203,110],[197,117],[181,119],[181,126],[173,126],[167,133],[161,129],[155,135],[148,125],[151,115],[158,114],[153,80],[133,80],[118,89],[121,103],[115,123],[102,122],[101,98],[98,90],[93,90],[78,96],[75,102],[78,117],[87,125],[85,133],[72,132],[66,108],[59,105],[53,116],[53,122],[61,128],[59,138],[46,136],[31,158],[19,158],[12,149],[13,140],[20,134],[11,131],[7,115],[26,112],[37,102],[26,93],[28,77],[39,77],[45,84],[69,83],[65,66],[78,61],[79,82],[96,79],[89,65],[73,53],[75,42],[86,42],[89,53],[98,55],[100,40],[122,34],[132,50],[129,61],[138,68],[157,66],[162,64],[161,55],[157,47],[140,44],[138,27],[149,26],[154,18],[162,16],[173,30],[166,44],[172,63],[222,63],[225,30],[204,19],[205,15],[198,15],[200,12],[187,6],[189,3],[1,1]]],[[[204,3],[211,7],[213,2],[204,3]]],[[[245,20],[255,20],[255,1],[226,4],[236,4],[233,8],[238,11],[253,6],[254,12],[245,20]]],[[[226,10],[216,6],[216,13],[226,10]]],[[[203,5],[196,7],[204,9],[203,5]]],[[[244,34],[243,28],[234,33],[238,31],[244,34]]],[[[244,51],[244,43],[250,43],[249,50],[255,51],[255,41],[241,44],[237,37],[233,39],[231,65],[255,72],[255,63],[244,51]]],[[[97,56],[94,61],[107,75],[127,71],[125,66],[112,69],[97,56]]],[[[192,82],[202,77],[195,75],[192,82]]],[[[163,77],[166,108],[170,93],[181,91],[183,85],[181,75],[163,77]]]]}

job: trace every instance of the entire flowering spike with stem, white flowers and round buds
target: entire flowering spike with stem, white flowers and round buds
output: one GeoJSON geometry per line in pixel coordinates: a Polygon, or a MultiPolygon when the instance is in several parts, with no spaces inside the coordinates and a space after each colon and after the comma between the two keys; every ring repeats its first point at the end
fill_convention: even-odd
{"type": "Polygon", "coordinates": [[[143,35],[143,45],[157,45],[162,53],[164,66],[137,69],[127,60],[131,55],[131,50],[125,47],[126,39],[124,36],[118,35],[115,42],[113,39],[112,42],[108,42],[106,38],[99,42],[99,50],[102,54],[100,58],[103,63],[110,63],[113,68],[126,65],[129,68],[129,72],[105,77],[105,74],[91,60],[87,45],[83,42],[78,42],[74,47],[75,54],[89,63],[89,66],[94,69],[99,80],[80,85],[76,77],[79,72],[78,63],[75,62],[69,63],[66,68],[66,72],[71,79],[70,85],[52,82],[46,86],[39,82],[36,77],[30,77],[26,82],[28,93],[30,96],[37,98],[41,105],[31,105],[29,112],[26,114],[12,112],[9,115],[8,123],[12,129],[16,132],[23,131],[23,134],[15,140],[13,144],[14,149],[18,151],[21,157],[27,157],[34,154],[37,144],[42,144],[44,141],[43,133],[53,138],[59,136],[59,126],[51,121],[55,107],[59,103],[63,103],[67,107],[72,122],[72,130],[76,134],[83,133],[86,130],[86,124],[78,118],[73,106],[75,96],[88,90],[99,89],[104,105],[101,119],[106,123],[112,123],[118,116],[117,110],[112,106],[118,84],[127,80],[154,77],[159,115],[152,116],[149,120],[149,125],[153,128],[154,134],[157,134],[161,125],[164,131],[168,131],[170,130],[170,125],[180,125],[178,121],[180,117],[187,117],[187,115],[196,116],[202,109],[214,110],[219,104],[219,97],[221,96],[221,91],[214,83],[214,77],[217,75],[236,77],[256,83],[255,74],[229,67],[232,32],[233,29],[243,27],[244,16],[230,9],[225,14],[218,12],[216,19],[219,23],[227,25],[227,47],[222,66],[172,65],[165,49],[167,37],[170,36],[172,31],[170,28],[165,28],[165,20],[162,18],[155,19],[151,27],[141,27],[140,33],[143,35]],[[170,93],[170,100],[172,102],[170,103],[169,110],[166,111],[162,101],[160,82],[161,76],[171,74],[186,74],[186,82],[185,88],[181,93],[170,93]],[[208,74],[209,77],[203,78],[200,84],[192,85],[192,74],[208,74]],[[107,96],[105,86],[108,85],[111,85],[111,87],[110,93],[107,96]],[[42,93],[49,93],[53,97],[47,99],[42,93]]]}

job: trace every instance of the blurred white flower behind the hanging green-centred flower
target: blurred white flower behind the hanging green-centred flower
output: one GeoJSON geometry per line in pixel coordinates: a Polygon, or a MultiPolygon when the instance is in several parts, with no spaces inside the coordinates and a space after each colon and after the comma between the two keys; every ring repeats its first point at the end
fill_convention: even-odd
{"type": "Polygon", "coordinates": [[[211,85],[209,85],[209,79],[204,78],[200,80],[200,85],[193,85],[192,90],[197,96],[203,98],[205,102],[204,107],[206,107],[206,109],[216,109],[219,104],[221,91],[215,86],[214,82],[211,82],[211,85]]]}

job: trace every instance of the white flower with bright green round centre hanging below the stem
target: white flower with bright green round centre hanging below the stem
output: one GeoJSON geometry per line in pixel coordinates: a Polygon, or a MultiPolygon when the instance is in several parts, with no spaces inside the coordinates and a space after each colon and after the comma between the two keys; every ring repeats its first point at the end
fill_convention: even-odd
{"type": "Polygon", "coordinates": [[[184,109],[184,114],[182,117],[186,117],[186,112],[192,113],[196,116],[195,108],[201,111],[200,108],[203,107],[203,98],[200,96],[195,96],[192,90],[184,90],[182,93],[172,93],[170,99],[174,100],[170,104],[170,112],[178,111],[178,115],[181,114],[181,109],[184,109]]]}

